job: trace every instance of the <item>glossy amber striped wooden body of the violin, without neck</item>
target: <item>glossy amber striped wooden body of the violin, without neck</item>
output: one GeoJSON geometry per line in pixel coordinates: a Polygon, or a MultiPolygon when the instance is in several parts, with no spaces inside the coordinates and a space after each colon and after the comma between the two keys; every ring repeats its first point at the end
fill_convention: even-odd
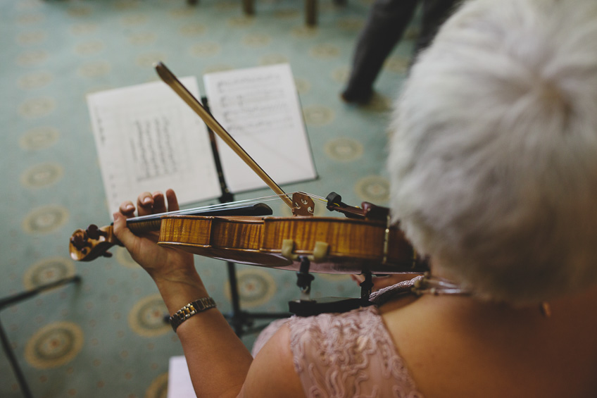
{"type": "Polygon", "coordinates": [[[214,259],[298,270],[301,256],[320,273],[427,270],[396,228],[335,217],[164,216],[158,244],[214,259]]]}

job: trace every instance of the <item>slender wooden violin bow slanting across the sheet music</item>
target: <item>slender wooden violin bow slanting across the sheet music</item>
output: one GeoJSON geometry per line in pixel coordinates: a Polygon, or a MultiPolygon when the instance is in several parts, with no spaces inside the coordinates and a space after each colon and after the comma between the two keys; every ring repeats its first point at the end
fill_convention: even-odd
{"type": "Polygon", "coordinates": [[[190,106],[197,115],[199,115],[203,122],[205,122],[206,125],[208,125],[208,127],[215,132],[215,134],[217,134],[218,137],[220,137],[222,141],[224,141],[232,149],[232,151],[234,151],[234,153],[236,153],[244,161],[244,163],[246,163],[246,165],[249,166],[251,170],[253,170],[253,172],[255,172],[259,178],[263,180],[263,182],[265,182],[265,184],[268,185],[268,187],[272,189],[272,191],[282,198],[284,203],[286,203],[290,209],[294,209],[294,204],[288,195],[284,193],[282,188],[280,188],[279,185],[277,185],[275,181],[270,178],[268,173],[265,173],[265,170],[263,170],[263,168],[261,168],[261,166],[259,166],[257,162],[246,153],[243,147],[239,145],[232,135],[230,135],[230,133],[227,132],[222,125],[220,125],[218,120],[215,120],[215,118],[211,116],[206,108],[201,105],[201,102],[189,92],[187,87],[184,87],[174,73],[170,72],[170,70],[161,62],[156,63],[154,68],[156,68],[156,72],[160,76],[161,80],[170,86],[170,88],[174,90],[174,92],[178,94],[178,96],[184,102],[186,102],[187,105],[190,106]]]}

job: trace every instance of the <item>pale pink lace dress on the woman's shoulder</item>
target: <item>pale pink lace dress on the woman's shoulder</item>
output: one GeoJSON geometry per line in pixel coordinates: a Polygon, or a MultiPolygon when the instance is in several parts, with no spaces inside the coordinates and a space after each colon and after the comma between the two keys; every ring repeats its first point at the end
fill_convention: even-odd
{"type": "MultiPolygon", "coordinates": [[[[387,301],[411,284],[407,281],[380,290],[372,301],[387,301]]],[[[294,368],[307,397],[423,397],[377,306],[276,321],[258,337],[253,354],[284,323],[290,328],[294,368]]]]}

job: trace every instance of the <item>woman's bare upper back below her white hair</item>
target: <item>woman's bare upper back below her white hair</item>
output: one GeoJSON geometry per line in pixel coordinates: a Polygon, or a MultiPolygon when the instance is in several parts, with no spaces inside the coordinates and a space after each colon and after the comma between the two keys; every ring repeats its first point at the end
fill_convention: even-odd
{"type": "Polygon", "coordinates": [[[596,396],[597,290],[551,303],[551,316],[470,297],[406,300],[381,313],[425,397],[596,396]]]}

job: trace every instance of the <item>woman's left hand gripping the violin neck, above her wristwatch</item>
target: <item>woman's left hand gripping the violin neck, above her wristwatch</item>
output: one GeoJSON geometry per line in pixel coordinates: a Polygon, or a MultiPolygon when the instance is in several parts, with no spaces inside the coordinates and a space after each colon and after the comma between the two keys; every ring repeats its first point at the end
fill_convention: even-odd
{"type": "MultiPolygon", "coordinates": [[[[139,216],[148,214],[165,213],[179,209],[176,194],[168,189],[164,195],[161,192],[150,194],[144,192],[137,198],[139,216]],[[168,201],[166,208],[165,199],[168,201]]],[[[120,205],[120,212],[114,213],[114,234],[125,245],[134,261],[137,261],[147,273],[155,280],[168,280],[178,282],[196,274],[193,255],[185,251],[160,247],[158,232],[147,232],[144,235],[134,235],[126,225],[126,219],[134,216],[135,206],[131,201],[120,205]]]]}

